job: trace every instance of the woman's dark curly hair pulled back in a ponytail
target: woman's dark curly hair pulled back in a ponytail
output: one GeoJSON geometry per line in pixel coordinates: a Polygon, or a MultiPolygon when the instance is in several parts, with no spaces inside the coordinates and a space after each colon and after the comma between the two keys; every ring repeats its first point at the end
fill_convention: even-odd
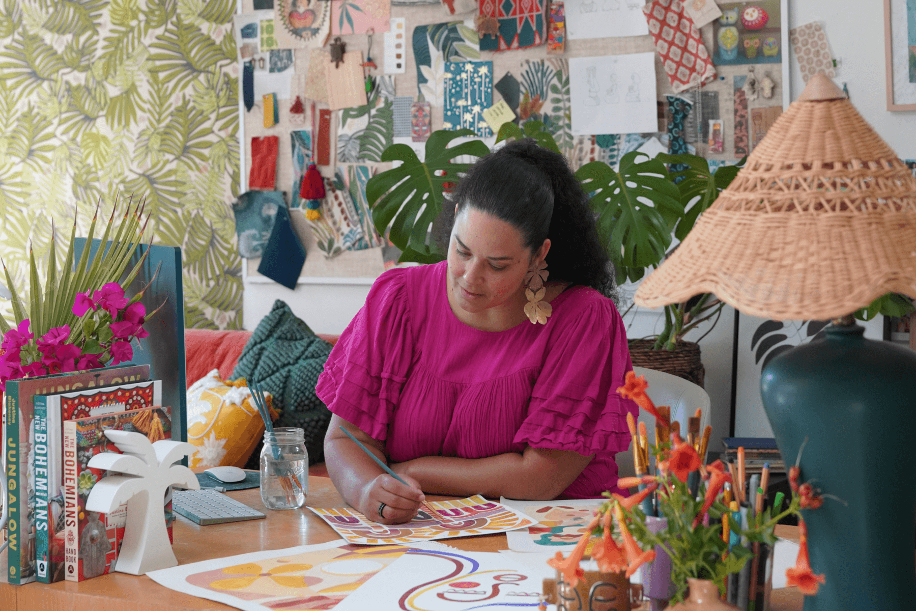
{"type": "Polygon", "coordinates": [[[478,159],[442,204],[433,230],[442,253],[448,252],[455,216],[464,206],[518,227],[532,253],[550,238],[551,280],[616,298],[614,266],[598,240],[588,197],[562,155],[525,138],[478,159]],[[457,211],[450,201],[458,202],[457,211]]]}

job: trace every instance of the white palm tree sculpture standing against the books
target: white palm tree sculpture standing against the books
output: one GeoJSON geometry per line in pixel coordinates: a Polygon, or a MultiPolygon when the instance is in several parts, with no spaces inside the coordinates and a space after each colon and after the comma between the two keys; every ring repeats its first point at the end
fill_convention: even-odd
{"type": "Polygon", "coordinates": [[[162,499],[169,486],[197,490],[197,476],[175,464],[196,449],[191,443],[161,440],[150,443],[146,435],[128,431],[105,431],[123,454],[105,452],[89,461],[93,469],[116,471],[93,486],[86,510],[111,513],[127,502],[124,542],[114,571],[143,575],[178,564],[169,543],[162,499]]]}

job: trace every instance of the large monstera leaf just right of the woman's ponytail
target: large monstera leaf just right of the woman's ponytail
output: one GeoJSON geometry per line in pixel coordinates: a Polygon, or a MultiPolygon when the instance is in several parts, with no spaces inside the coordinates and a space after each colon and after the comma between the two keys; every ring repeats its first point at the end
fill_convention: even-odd
{"type": "Polygon", "coordinates": [[[671,231],[684,208],[681,193],[659,158],[637,161],[632,151],[615,170],[602,161],[586,163],[575,173],[592,193],[598,235],[617,267],[617,281],[642,277],[644,267],[658,265],[671,245],[671,231]]]}

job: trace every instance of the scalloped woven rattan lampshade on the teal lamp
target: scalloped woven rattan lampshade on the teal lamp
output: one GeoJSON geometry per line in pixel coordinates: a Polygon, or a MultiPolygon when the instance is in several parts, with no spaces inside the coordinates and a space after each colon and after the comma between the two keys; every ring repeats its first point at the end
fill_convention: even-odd
{"type": "Polygon", "coordinates": [[[817,74],[635,300],[714,293],[776,320],[827,320],[916,297],[916,178],[817,74]]]}

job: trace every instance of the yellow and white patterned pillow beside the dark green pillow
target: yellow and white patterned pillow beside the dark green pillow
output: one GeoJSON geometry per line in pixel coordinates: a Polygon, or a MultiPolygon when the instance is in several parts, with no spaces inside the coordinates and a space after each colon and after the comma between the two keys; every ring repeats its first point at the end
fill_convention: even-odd
{"type": "MultiPolygon", "coordinates": [[[[265,393],[265,400],[270,420],[277,420],[269,393],[265,393]]],[[[245,378],[224,380],[219,369],[213,369],[188,388],[188,442],[197,446],[191,455],[191,468],[242,468],[263,437],[264,420],[245,378]]]]}

